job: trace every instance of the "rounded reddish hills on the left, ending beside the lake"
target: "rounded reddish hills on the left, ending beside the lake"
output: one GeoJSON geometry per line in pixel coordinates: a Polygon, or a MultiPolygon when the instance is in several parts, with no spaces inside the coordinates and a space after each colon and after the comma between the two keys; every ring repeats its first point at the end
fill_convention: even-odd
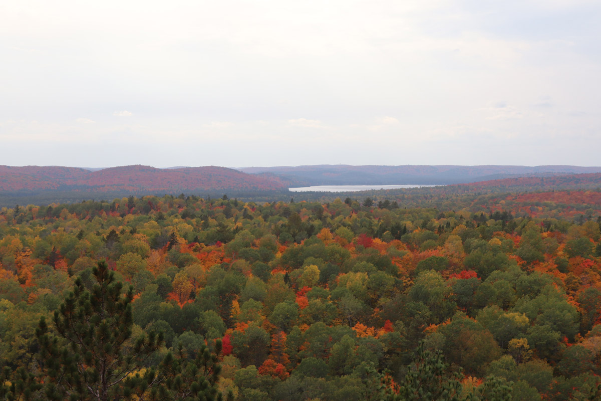
{"type": "Polygon", "coordinates": [[[160,169],[133,165],[90,171],[75,167],[0,166],[0,191],[178,192],[276,191],[288,188],[281,177],[246,174],[224,167],[160,169]]]}

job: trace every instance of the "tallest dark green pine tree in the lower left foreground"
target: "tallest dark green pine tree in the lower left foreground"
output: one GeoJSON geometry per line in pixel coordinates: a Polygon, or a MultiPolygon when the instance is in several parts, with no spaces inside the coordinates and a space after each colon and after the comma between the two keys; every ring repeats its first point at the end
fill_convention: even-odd
{"type": "MultiPolygon", "coordinates": [[[[123,293],[120,281],[106,262],[93,270],[93,289],[79,278],[75,288],[55,311],[50,331],[42,318],[35,335],[40,344],[41,382],[49,400],[123,399],[132,392],[126,380],[144,367],[145,359],[163,343],[153,332],[131,341],[133,287],[123,293]]],[[[139,375],[138,375],[139,376],[139,375]]],[[[144,370],[140,387],[156,384],[154,369],[144,370]]]]}

